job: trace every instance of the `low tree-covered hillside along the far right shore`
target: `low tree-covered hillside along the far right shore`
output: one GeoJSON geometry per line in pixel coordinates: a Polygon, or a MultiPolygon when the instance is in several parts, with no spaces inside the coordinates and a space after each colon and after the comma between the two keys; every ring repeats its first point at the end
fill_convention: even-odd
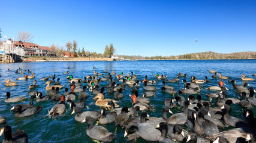
{"type": "Polygon", "coordinates": [[[230,54],[221,54],[216,52],[197,52],[184,55],[170,55],[170,56],[154,56],[154,57],[142,57],[140,55],[118,55],[125,60],[176,60],[176,59],[188,59],[188,60],[203,60],[203,59],[248,59],[256,58],[256,52],[233,52],[230,54]]]}

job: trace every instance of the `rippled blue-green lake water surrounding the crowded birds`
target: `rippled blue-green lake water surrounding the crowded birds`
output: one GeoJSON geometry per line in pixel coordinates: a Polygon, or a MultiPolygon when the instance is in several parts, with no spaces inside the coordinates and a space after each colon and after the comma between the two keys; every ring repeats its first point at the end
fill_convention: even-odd
{"type": "MultiPolygon", "coordinates": [[[[210,80],[209,83],[203,85],[201,90],[201,96],[203,100],[208,100],[205,94],[214,91],[208,91],[205,88],[208,86],[216,86],[219,83],[219,79],[213,79],[212,74],[209,70],[215,70],[219,73],[222,73],[222,76],[229,76],[230,79],[235,79],[236,84],[242,85],[242,80],[240,79],[242,74],[246,74],[246,77],[252,77],[253,73],[256,73],[256,60],[178,60],[178,61],[62,61],[62,62],[39,62],[39,63],[14,63],[14,64],[0,64],[0,77],[2,83],[0,84],[0,116],[7,119],[7,123],[4,125],[10,125],[13,128],[13,132],[20,128],[25,130],[28,133],[29,142],[93,142],[89,136],[86,135],[87,123],[80,123],[74,120],[74,114],[71,115],[70,107],[67,105],[67,111],[63,116],[55,117],[55,119],[50,119],[47,115],[48,110],[53,107],[57,102],[46,101],[37,103],[34,101],[34,105],[43,106],[38,114],[25,118],[15,118],[14,113],[10,111],[13,105],[18,103],[5,103],[5,92],[10,91],[11,97],[25,96],[28,99],[24,100],[24,104],[29,102],[28,95],[28,86],[31,85],[34,79],[28,80],[16,80],[17,77],[23,77],[24,74],[14,73],[16,69],[29,69],[35,73],[35,79],[39,85],[36,89],[39,92],[43,92],[43,95],[47,94],[45,90],[46,83],[45,81],[40,81],[41,77],[50,76],[56,74],[56,79],[61,78],[61,85],[64,85],[64,88],[70,88],[70,83],[67,80],[67,74],[62,74],[63,72],[70,71],[74,78],[79,77],[83,78],[87,75],[93,75],[94,69],[92,67],[97,67],[95,69],[98,73],[103,73],[105,69],[108,71],[114,70],[116,73],[124,72],[125,74],[133,71],[134,74],[137,74],[138,80],[143,80],[144,76],[148,76],[149,80],[155,79],[155,74],[163,74],[168,76],[167,79],[173,79],[176,75],[180,73],[188,74],[188,77],[180,77],[179,83],[167,83],[174,87],[176,91],[183,88],[182,79],[190,80],[190,76],[195,76],[198,79],[204,79],[205,76],[210,80]],[[70,67],[71,69],[68,69],[70,67]],[[10,69],[12,71],[7,71],[10,69]],[[13,87],[4,86],[4,80],[11,79],[11,81],[17,82],[19,85],[13,87]]],[[[27,73],[27,71],[25,71],[27,73]]],[[[256,77],[252,77],[256,78],[256,77]]],[[[228,83],[228,80],[223,80],[229,91],[227,91],[228,96],[231,98],[238,98],[239,94],[234,92],[233,86],[231,83],[228,83]]],[[[256,88],[256,80],[248,82],[250,86],[256,88]]],[[[85,83],[83,83],[85,85],[85,83]]],[[[101,82],[101,86],[106,85],[107,82],[101,82]]],[[[161,111],[164,107],[164,98],[171,98],[172,95],[164,94],[161,92],[162,83],[159,80],[156,83],[156,92],[155,97],[149,97],[151,102],[150,105],[156,109],[155,112],[148,111],[147,113],[150,116],[161,117],[161,111]]],[[[88,89],[87,89],[88,90],[88,89]]],[[[119,105],[121,107],[131,107],[132,100],[128,96],[130,94],[131,88],[126,87],[123,94],[125,97],[120,100],[119,105]]],[[[106,91],[105,91],[106,92],[106,91]]],[[[139,96],[144,92],[143,85],[141,84],[138,89],[139,96]]],[[[64,93],[64,90],[60,91],[61,94],[64,93]]],[[[83,108],[83,111],[87,110],[97,110],[100,108],[95,105],[95,102],[92,100],[94,95],[88,91],[88,94],[91,95],[86,100],[86,105],[89,109],[83,108]]],[[[78,94],[77,94],[78,95],[78,94]]],[[[188,95],[184,95],[187,98],[188,95]]],[[[113,94],[106,95],[106,98],[112,98],[113,94]]],[[[215,102],[216,100],[213,100],[215,102]]],[[[19,102],[20,104],[20,102],[19,102]]],[[[23,103],[22,103],[23,104],[23,103]]],[[[242,110],[239,105],[231,105],[233,111],[232,116],[242,118],[242,110]]],[[[177,113],[180,109],[173,110],[173,113],[177,113]]],[[[139,113],[140,114],[140,113],[139,113]]],[[[256,111],[254,110],[254,114],[256,111]]],[[[170,116],[170,114],[167,114],[170,116]]],[[[0,125],[0,127],[4,126],[0,125]]],[[[104,125],[110,132],[115,132],[115,123],[109,125],[104,125]]],[[[223,130],[223,129],[222,129],[223,130]]],[[[225,129],[224,129],[225,130],[225,129]]],[[[114,142],[126,141],[124,138],[124,130],[118,128],[116,131],[118,136],[114,142]]],[[[4,136],[0,136],[0,141],[4,139],[4,136]]],[[[146,142],[143,139],[138,139],[137,142],[146,142]]]]}

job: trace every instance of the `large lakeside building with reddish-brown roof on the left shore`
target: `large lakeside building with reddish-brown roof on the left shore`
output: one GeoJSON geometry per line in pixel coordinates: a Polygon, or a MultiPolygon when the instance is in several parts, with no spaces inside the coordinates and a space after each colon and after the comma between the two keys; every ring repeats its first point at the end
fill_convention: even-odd
{"type": "Polygon", "coordinates": [[[56,57],[55,52],[51,52],[50,49],[48,46],[40,46],[32,42],[11,41],[11,39],[0,45],[2,54],[16,54],[22,57],[56,57]]]}

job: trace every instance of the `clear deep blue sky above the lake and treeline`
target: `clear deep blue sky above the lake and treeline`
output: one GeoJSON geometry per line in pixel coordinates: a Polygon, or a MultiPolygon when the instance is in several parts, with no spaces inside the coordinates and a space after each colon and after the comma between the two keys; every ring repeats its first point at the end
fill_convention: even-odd
{"type": "MultiPolygon", "coordinates": [[[[256,51],[256,1],[1,1],[2,39],[27,31],[41,46],[76,39],[86,51],[180,55],[256,51]],[[198,42],[194,42],[197,39],[198,42]]],[[[1,39],[1,40],[2,40],[1,39]]]]}

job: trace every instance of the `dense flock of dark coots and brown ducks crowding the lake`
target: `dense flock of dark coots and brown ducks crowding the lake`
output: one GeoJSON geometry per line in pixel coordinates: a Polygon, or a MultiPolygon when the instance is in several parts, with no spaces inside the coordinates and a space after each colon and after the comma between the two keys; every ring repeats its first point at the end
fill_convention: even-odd
{"type": "MultiPolygon", "coordinates": [[[[94,69],[96,69],[94,67],[94,69]]],[[[22,69],[16,70],[16,73],[23,73],[22,69]]],[[[10,71],[10,70],[8,70],[10,71]]],[[[24,71],[26,72],[26,71],[24,71]]],[[[31,71],[28,70],[28,73],[31,71]]],[[[253,108],[256,105],[254,97],[255,90],[249,86],[249,82],[254,80],[242,74],[241,80],[245,81],[243,85],[236,85],[236,81],[222,76],[221,73],[210,70],[212,78],[219,78],[219,84],[209,86],[206,89],[218,91],[201,95],[202,85],[207,84],[210,80],[197,79],[191,76],[191,82],[187,82],[187,74],[179,73],[174,79],[167,79],[167,76],[155,74],[155,79],[148,79],[144,76],[143,80],[138,80],[137,75],[133,74],[116,74],[113,70],[111,73],[105,70],[104,73],[94,71],[92,75],[82,78],[74,78],[69,71],[67,80],[70,82],[70,89],[65,88],[64,94],[59,90],[64,86],[61,85],[60,79],[55,82],[56,76],[42,77],[41,81],[46,81],[47,95],[40,91],[29,91],[30,102],[28,104],[19,104],[25,100],[25,97],[11,98],[11,91],[6,92],[4,102],[18,102],[12,108],[14,117],[23,118],[37,114],[43,110],[40,105],[34,105],[35,102],[59,101],[49,110],[49,117],[54,118],[65,113],[66,105],[70,105],[71,114],[76,114],[74,119],[77,122],[86,122],[88,127],[86,134],[97,141],[111,142],[116,138],[116,132],[109,132],[104,126],[114,122],[116,128],[124,129],[124,138],[134,140],[143,138],[146,141],[158,142],[256,142],[256,119],[253,114],[253,108]],[[104,74],[105,73],[105,74],[104,74]],[[171,84],[180,82],[184,83],[184,88],[179,91],[174,90],[171,84]],[[223,80],[224,79],[224,80],[223,80]],[[101,86],[100,82],[107,82],[101,86]],[[143,85],[140,85],[143,83],[143,85]],[[226,84],[233,84],[234,89],[241,96],[239,98],[228,98],[226,84]],[[154,100],[154,95],[158,88],[155,85],[161,85],[162,104],[164,108],[161,111],[155,110],[150,105],[150,100],[154,100]],[[143,87],[143,94],[139,96],[138,89],[143,87]],[[70,91],[69,91],[70,90],[70,91]],[[88,94],[88,91],[91,94],[88,94]],[[130,90],[129,95],[124,95],[124,90],[130,90]],[[106,94],[112,94],[113,97],[105,98],[106,94]],[[94,96],[91,96],[94,95],[94,96]],[[171,96],[170,96],[171,95],[171,96]],[[129,96],[133,101],[129,107],[122,105],[122,98],[129,96]],[[202,96],[209,97],[209,100],[203,101],[202,96]],[[187,99],[185,97],[188,97],[187,99]],[[86,107],[86,99],[92,98],[98,111],[83,111],[86,107]],[[212,100],[216,98],[216,100],[212,100]],[[243,119],[231,116],[231,105],[239,104],[244,114],[243,119]],[[172,110],[182,108],[179,113],[173,114],[172,110]],[[149,117],[148,113],[161,112],[162,117],[149,117]],[[167,114],[171,114],[169,117],[167,114]],[[96,123],[96,124],[95,124],[96,123]],[[100,125],[98,125],[100,124],[100,125]],[[230,129],[221,132],[221,128],[230,126],[230,129]]],[[[256,76],[253,74],[253,76],[256,76]]],[[[35,73],[19,77],[17,80],[34,79],[35,73]]],[[[5,86],[16,86],[17,82],[5,80],[5,86]]],[[[34,80],[29,89],[37,88],[37,80],[34,80]]],[[[159,97],[160,98],[160,97],[159,97]]],[[[0,117],[0,123],[6,123],[4,117],[0,117]]],[[[5,136],[3,142],[28,142],[28,135],[22,129],[17,129],[12,134],[10,126],[1,128],[0,136],[5,136]]]]}

